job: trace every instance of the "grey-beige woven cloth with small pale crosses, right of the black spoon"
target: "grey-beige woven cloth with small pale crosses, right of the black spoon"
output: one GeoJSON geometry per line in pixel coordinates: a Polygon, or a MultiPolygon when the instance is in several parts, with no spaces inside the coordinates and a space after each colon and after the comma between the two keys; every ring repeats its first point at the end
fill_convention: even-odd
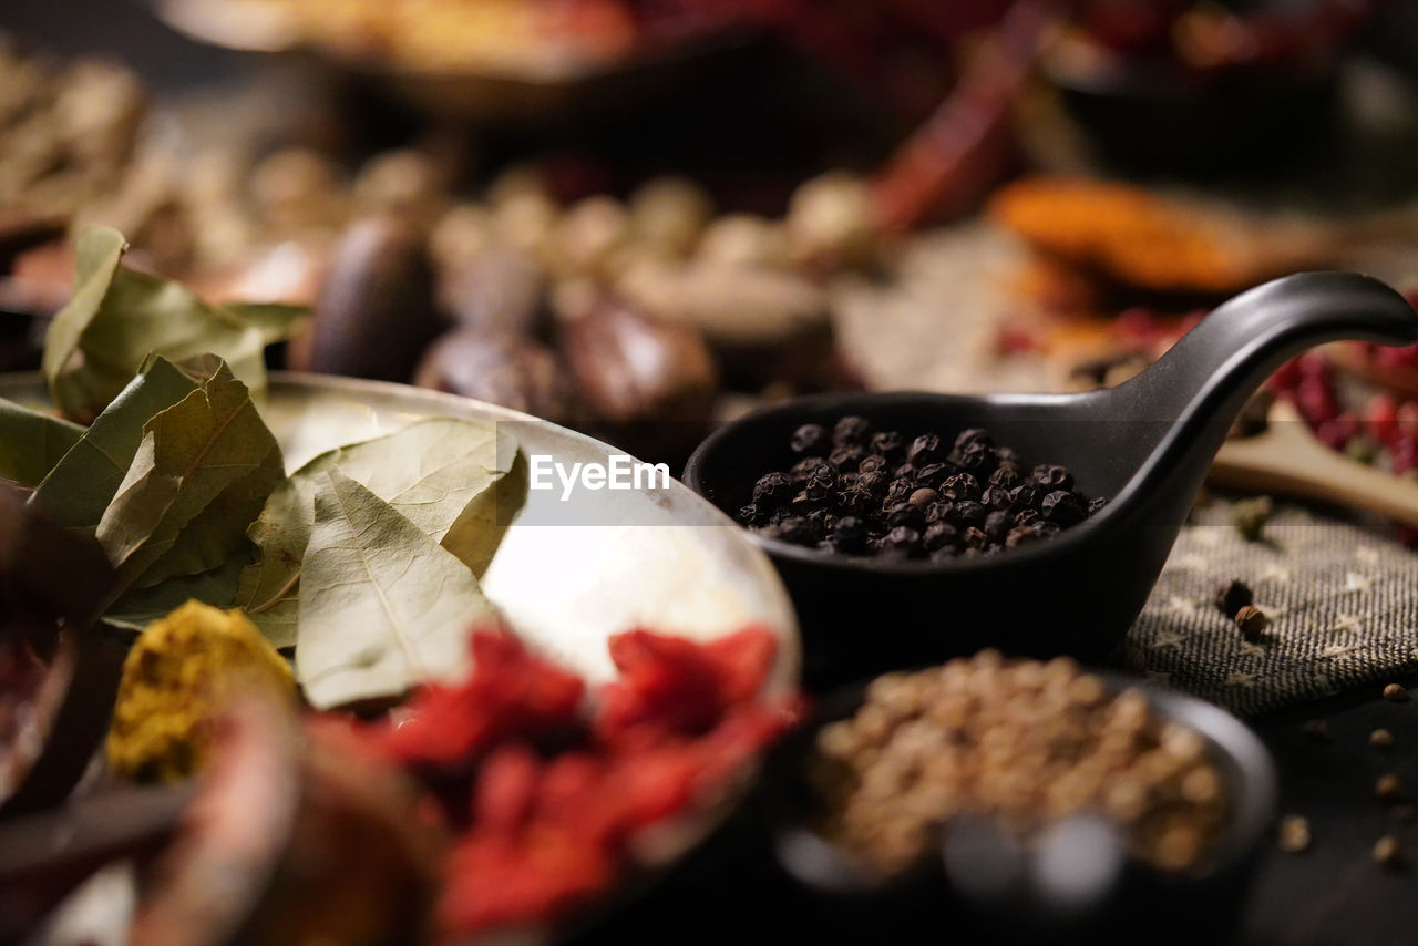
{"type": "Polygon", "coordinates": [[[1391,526],[1283,503],[1246,542],[1214,499],[1183,528],[1123,661],[1238,713],[1387,682],[1418,669],[1418,553],[1391,526]],[[1255,642],[1215,606],[1231,579],[1271,618],[1255,642]]]}

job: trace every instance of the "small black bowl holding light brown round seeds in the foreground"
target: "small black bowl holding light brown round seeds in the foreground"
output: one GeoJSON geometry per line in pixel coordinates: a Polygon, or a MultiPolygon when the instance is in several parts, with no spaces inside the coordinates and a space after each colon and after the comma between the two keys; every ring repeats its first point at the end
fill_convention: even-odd
{"type": "MultiPolygon", "coordinates": [[[[784,896],[794,911],[813,916],[842,939],[873,935],[888,939],[922,923],[957,933],[964,942],[1098,942],[1100,935],[1147,930],[1150,942],[1202,942],[1224,937],[1245,901],[1262,844],[1275,818],[1275,766],[1261,740],[1235,716],[1204,701],[1141,684],[1122,675],[1102,674],[1110,692],[1133,686],[1153,711],[1202,736],[1211,762],[1222,776],[1228,817],[1221,835],[1193,869],[1166,874],[1123,857],[1120,869],[1103,894],[1083,912],[1061,912],[1056,903],[1035,899],[1028,888],[1001,899],[981,898],[951,884],[936,857],[891,882],[861,875],[849,861],[813,834],[807,813],[815,800],[805,784],[805,762],[818,732],[847,719],[862,703],[866,685],[855,684],[830,694],[811,725],[798,730],[774,756],[766,779],[761,817],[771,838],[774,859],[784,881],[784,896]]],[[[1088,859],[1088,845],[1078,850],[1088,859]]],[[[960,872],[990,871],[988,852],[978,864],[954,864],[960,872]]]]}

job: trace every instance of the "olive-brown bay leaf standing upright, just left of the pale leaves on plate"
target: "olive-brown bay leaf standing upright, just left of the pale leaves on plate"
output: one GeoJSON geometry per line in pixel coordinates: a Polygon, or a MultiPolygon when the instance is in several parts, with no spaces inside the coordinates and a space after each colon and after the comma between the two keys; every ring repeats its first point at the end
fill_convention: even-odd
{"type": "Polygon", "coordinates": [[[281,448],[220,359],[197,390],[143,425],[132,465],[96,538],[121,587],[145,587],[225,564],[285,478],[281,448]]]}

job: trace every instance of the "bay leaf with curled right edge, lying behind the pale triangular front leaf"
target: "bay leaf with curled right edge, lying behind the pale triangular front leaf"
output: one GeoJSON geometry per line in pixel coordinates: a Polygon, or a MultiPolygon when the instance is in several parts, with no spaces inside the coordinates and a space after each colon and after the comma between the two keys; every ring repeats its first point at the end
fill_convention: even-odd
{"type": "Polygon", "coordinates": [[[237,603],[275,647],[296,642],[296,589],[315,494],[335,468],[363,484],[481,576],[526,496],[526,461],[493,424],[437,417],[320,454],[281,484],[247,532],[258,560],[237,603]],[[508,477],[522,469],[523,475],[508,477]],[[510,482],[499,482],[503,477],[510,482]],[[503,488],[506,486],[506,488],[503,488]]]}

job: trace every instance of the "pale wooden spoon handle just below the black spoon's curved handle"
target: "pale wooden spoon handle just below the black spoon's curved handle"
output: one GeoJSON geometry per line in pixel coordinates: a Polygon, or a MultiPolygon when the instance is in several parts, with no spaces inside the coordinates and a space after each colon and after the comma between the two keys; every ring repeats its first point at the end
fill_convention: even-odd
{"type": "Polygon", "coordinates": [[[1418,528],[1418,482],[1350,460],[1310,434],[1289,401],[1271,408],[1271,425],[1228,440],[1211,465],[1211,482],[1378,512],[1418,528]]]}

